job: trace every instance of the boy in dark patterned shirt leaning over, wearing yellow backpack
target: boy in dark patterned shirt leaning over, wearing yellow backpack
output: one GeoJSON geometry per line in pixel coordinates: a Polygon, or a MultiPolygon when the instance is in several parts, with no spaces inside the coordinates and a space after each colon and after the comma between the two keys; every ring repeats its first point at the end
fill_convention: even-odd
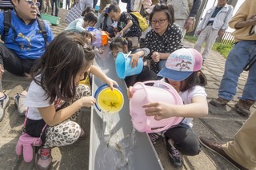
{"type": "Polygon", "coordinates": [[[113,2],[108,13],[110,18],[118,22],[118,33],[115,37],[125,37],[133,42],[133,48],[138,47],[139,37],[142,35],[142,30],[138,26],[138,22],[127,12],[122,12],[116,2],[113,2]]]}

